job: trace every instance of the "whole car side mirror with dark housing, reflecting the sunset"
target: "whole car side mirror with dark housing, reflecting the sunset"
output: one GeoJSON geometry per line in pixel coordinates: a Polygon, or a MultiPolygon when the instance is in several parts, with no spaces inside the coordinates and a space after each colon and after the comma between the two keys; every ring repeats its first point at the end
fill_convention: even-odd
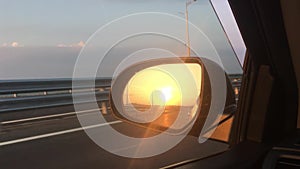
{"type": "MultiPolygon", "coordinates": [[[[227,90],[225,109],[232,107],[235,96],[226,73],[205,61],[225,74],[227,86],[221,86],[227,90]]],[[[211,106],[211,92],[203,59],[154,59],[135,64],[113,79],[110,104],[113,115],[122,121],[169,134],[199,135],[211,106]]]]}

